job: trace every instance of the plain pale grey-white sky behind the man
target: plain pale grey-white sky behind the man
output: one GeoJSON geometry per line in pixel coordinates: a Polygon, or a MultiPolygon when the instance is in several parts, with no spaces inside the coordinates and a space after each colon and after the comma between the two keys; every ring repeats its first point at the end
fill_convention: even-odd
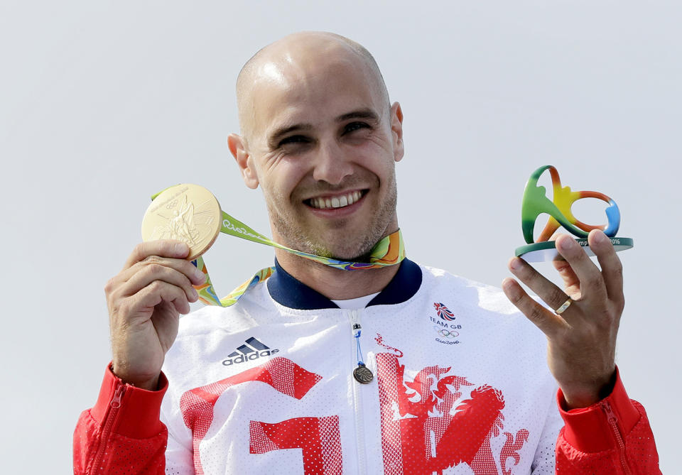
{"type": "MultiPolygon", "coordinates": [[[[2,1],[0,470],[71,471],[75,422],[110,357],[102,288],[151,193],[200,183],[269,234],[225,145],[234,80],[262,46],[313,29],[364,44],[402,104],[399,221],[414,260],[499,285],[540,165],[615,198],[619,235],[635,239],[621,254],[618,364],[673,473],[681,24],[675,1],[2,1]]],[[[592,208],[576,214],[604,222],[592,208]]],[[[272,252],[220,236],[207,263],[225,294],[272,252]]]]}

